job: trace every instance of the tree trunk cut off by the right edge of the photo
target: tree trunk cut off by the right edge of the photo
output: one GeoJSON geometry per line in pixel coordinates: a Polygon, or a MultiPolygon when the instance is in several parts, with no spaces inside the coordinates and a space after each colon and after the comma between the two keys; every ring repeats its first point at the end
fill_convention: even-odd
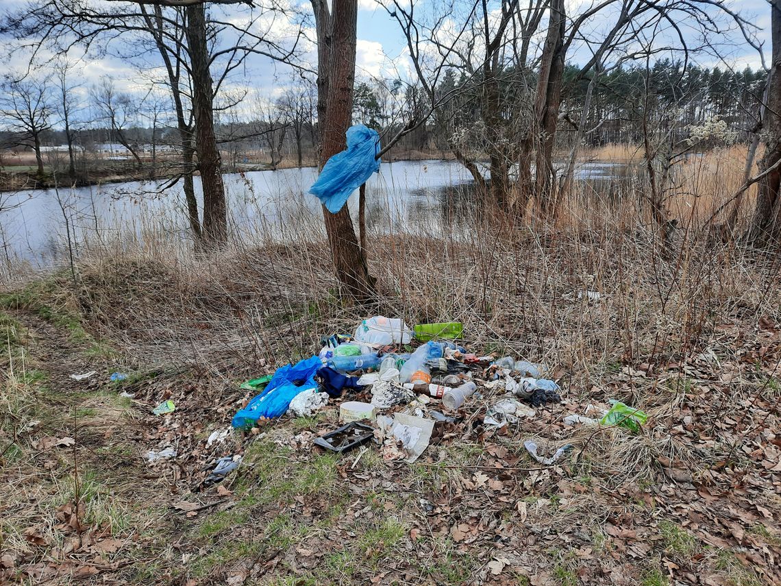
{"type": "MultiPolygon", "coordinates": [[[[760,173],[781,159],[781,0],[771,6],[772,70],[769,73],[768,102],[765,109],[765,154],[759,162],[760,173]]],[[[754,220],[748,241],[761,245],[781,239],[781,169],[776,168],[759,181],[754,220]]]]}

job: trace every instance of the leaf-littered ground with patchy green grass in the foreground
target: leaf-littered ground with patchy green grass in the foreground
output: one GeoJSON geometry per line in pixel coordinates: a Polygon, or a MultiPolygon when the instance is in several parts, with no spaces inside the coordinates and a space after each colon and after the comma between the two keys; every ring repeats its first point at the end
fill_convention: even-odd
{"type": "Polygon", "coordinates": [[[685,362],[615,363],[590,385],[559,370],[563,402],[499,430],[483,426],[486,392],[408,464],[373,445],[313,448],[337,427],[338,400],[208,445],[250,396],[243,375],[192,366],[194,346],[180,348],[190,363],[163,363],[152,356],[169,341],[100,338],[58,306],[2,299],[0,581],[781,584],[781,328],[769,318],[722,323],[685,362]],[[649,413],[642,433],[562,423],[611,397],[649,413]],[[176,410],[153,415],[166,399],[176,410]],[[527,438],[574,448],[544,466],[527,438]],[[176,458],[146,461],[166,447],[176,458]],[[205,488],[226,455],[241,466],[205,488]]]}

